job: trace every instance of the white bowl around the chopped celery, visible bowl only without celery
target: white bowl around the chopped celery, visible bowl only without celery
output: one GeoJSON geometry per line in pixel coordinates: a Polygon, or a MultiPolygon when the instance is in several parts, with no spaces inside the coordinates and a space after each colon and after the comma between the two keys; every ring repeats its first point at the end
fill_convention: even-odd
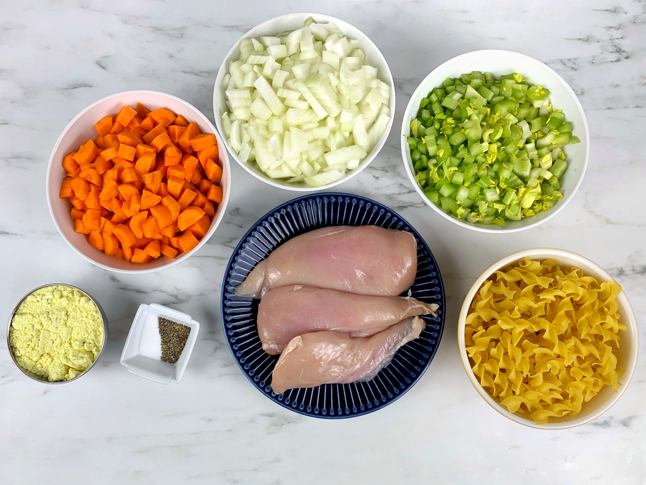
{"type": "Polygon", "coordinates": [[[558,211],[565,207],[574,193],[579,188],[583,174],[588,164],[589,153],[589,133],[588,123],[585,120],[585,114],[581,103],[579,103],[576,94],[572,88],[568,86],[567,82],[561,78],[554,70],[541,61],[537,61],[525,54],[512,52],[511,50],[475,50],[474,52],[467,52],[461,54],[453,59],[449,59],[445,63],[439,65],[424,78],[420,85],[413,92],[406,112],[404,113],[404,120],[402,122],[402,157],[404,158],[404,166],[406,166],[406,173],[410,178],[411,183],[417,193],[419,193],[422,200],[439,213],[444,219],[455,222],[459,226],[467,227],[481,232],[514,232],[523,229],[532,228],[545,222],[550,217],[556,215],[558,211]],[[421,189],[417,180],[415,179],[415,169],[413,162],[410,158],[410,149],[406,138],[410,136],[410,122],[417,116],[419,110],[419,103],[422,99],[428,96],[436,87],[440,86],[446,78],[455,78],[471,72],[472,70],[480,70],[482,72],[491,72],[494,76],[502,76],[510,72],[517,72],[527,77],[531,83],[539,84],[547,87],[550,90],[550,100],[552,101],[555,109],[561,109],[565,114],[565,119],[572,122],[572,134],[579,137],[581,143],[576,145],[568,145],[563,151],[567,155],[568,167],[563,175],[563,199],[556,202],[553,208],[541,212],[532,217],[526,217],[521,221],[505,221],[506,225],[501,228],[497,224],[472,224],[463,220],[453,219],[450,215],[444,212],[441,208],[433,204],[421,189]]]}

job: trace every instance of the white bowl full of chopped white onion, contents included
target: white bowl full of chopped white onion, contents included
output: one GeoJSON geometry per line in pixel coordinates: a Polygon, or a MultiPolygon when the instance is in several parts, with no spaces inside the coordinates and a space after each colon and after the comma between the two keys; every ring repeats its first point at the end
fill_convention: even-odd
{"type": "Polygon", "coordinates": [[[377,156],[395,89],[386,59],[359,29],[322,14],[288,14],[231,48],[215,80],[213,113],[247,172],[278,188],[315,191],[377,156]]]}

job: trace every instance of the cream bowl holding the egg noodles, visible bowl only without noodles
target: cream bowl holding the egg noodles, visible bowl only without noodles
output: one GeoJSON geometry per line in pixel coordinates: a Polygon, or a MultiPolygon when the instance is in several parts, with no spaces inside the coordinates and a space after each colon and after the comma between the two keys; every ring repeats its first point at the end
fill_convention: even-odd
{"type": "Polygon", "coordinates": [[[587,422],[592,421],[593,419],[598,418],[603,413],[608,411],[612,405],[614,405],[621,394],[625,392],[630,383],[630,378],[635,371],[637,366],[637,356],[639,350],[639,332],[637,327],[637,319],[635,314],[630,307],[630,302],[625,292],[621,292],[617,297],[617,302],[619,304],[619,314],[621,316],[621,322],[624,323],[628,330],[625,332],[620,332],[620,348],[616,353],[617,356],[617,368],[623,369],[623,372],[619,374],[619,380],[621,385],[618,391],[615,393],[612,390],[612,387],[606,385],[601,389],[601,392],[594,396],[589,402],[583,404],[581,412],[576,416],[565,415],[562,418],[550,418],[550,421],[547,424],[535,424],[534,420],[523,416],[518,413],[510,413],[507,411],[506,407],[499,404],[495,398],[491,396],[478,382],[475,377],[474,372],[471,370],[471,363],[469,361],[466,348],[464,346],[464,326],[466,323],[466,316],[469,313],[469,307],[472,300],[474,299],[475,294],[479,290],[480,286],[483,285],[486,279],[494,274],[495,271],[505,268],[513,263],[518,263],[519,261],[525,261],[525,257],[529,256],[532,259],[545,260],[545,259],[556,259],[559,263],[562,263],[563,266],[576,267],[583,270],[585,275],[589,275],[601,281],[615,281],[612,276],[610,276],[601,266],[598,264],[592,263],[589,259],[569,251],[562,249],[552,249],[552,248],[536,248],[528,249],[524,251],[519,251],[517,253],[508,255],[500,261],[492,264],[489,268],[485,270],[483,274],[480,275],[478,279],[475,280],[474,285],[471,287],[469,292],[464,298],[464,303],[462,304],[462,309],[460,311],[460,316],[457,323],[457,345],[460,352],[460,358],[462,360],[462,365],[464,366],[464,371],[468,376],[471,383],[474,385],[475,390],[478,391],[478,394],[486,401],[488,405],[493,407],[501,415],[509,418],[512,421],[515,421],[525,426],[534,427],[537,429],[565,429],[569,427],[580,426],[587,422]]]}

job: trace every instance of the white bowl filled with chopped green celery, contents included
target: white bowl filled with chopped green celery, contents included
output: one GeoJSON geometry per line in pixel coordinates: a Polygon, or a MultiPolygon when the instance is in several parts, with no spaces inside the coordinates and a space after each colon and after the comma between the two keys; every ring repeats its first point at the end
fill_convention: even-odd
{"type": "Polygon", "coordinates": [[[435,68],[406,107],[401,143],[424,202],[481,232],[550,219],[579,188],[589,154],[585,114],[567,82],[508,50],[468,52],[435,68]]]}

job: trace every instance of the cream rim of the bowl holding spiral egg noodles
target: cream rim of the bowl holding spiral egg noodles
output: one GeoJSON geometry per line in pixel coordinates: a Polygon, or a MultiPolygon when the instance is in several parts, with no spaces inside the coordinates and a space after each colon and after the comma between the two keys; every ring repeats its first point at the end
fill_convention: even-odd
{"type": "Polygon", "coordinates": [[[485,280],[488,277],[490,277],[492,274],[494,274],[496,270],[499,270],[500,268],[503,268],[508,264],[514,263],[516,261],[520,261],[524,259],[526,256],[529,256],[529,257],[548,256],[548,257],[553,257],[554,259],[557,259],[557,260],[559,258],[574,259],[575,261],[577,261],[577,265],[576,265],[577,268],[583,270],[584,272],[586,270],[594,270],[595,272],[598,272],[598,274],[600,274],[603,277],[603,279],[607,281],[614,281],[616,283],[616,280],[606,270],[601,268],[601,266],[599,266],[598,264],[594,263],[593,261],[590,261],[590,259],[587,259],[587,257],[585,256],[582,256],[578,253],[574,253],[571,251],[563,250],[563,249],[532,248],[532,249],[518,251],[506,257],[503,257],[502,259],[499,259],[494,264],[486,268],[483,274],[481,274],[475,280],[474,284],[471,286],[466,296],[464,297],[464,301],[462,303],[459,318],[457,321],[457,347],[460,353],[460,360],[462,361],[462,365],[464,368],[464,372],[466,372],[466,376],[468,377],[471,384],[474,386],[477,393],[480,394],[480,396],[485,400],[485,402],[488,405],[490,405],[492,408],[495,409],[495,411],[505,416],[506,418],[514,422],[517,422],[519,424],[523,424],[524,426],[533,427],[536,429],[567,429],[571,427],[581,426],[582,424],[586,424],[598,418],[599,416],[603,415],[603,413],[608,411],[610,407],[612,407],[621,398],[623,393],[628,388],[628,385],[630,384],[630,380],[632,379],[634,371],[637,367],[637,361],[639,357],[639,332],[637,327],[637,319],[636,319],[634,310],[630,305],[628,296],[625,294],[623,289],[621,290],[621,293],[619,294],[617,299],[620,300],[620,303],[623,307],[623,311],[622,311],[623,320],[625,325],[628,326],[627,332],[630,332],[632,336],[632,348],[634,349],[634,356],[632,360],[627,362],[626,363],[627,365],[625,365],[625,370],[621,374],[622,383],[618,391],[612,394],[612,398],[610,400],[608,400],[604,405],[600,406],[594,413],[590,413],[590,415],[583,416],[581,418],[574,417],[574,419],[570,421],[565,421],[565,422],[548,422],[546,424],[535,424],[533,420],[523,418],[517,415],[516,413],[510,413],[509,411],[507,411],[505,407],[503,407],[503,405],[495,401],[494,398],[477,381],[477,379],[475,378],[474,372],[471,369],[471,365],[469,363],[468,354],[466,352],[466,347],[464,345],[464,327],[466,325],[466,316],[468,315],[469,307],[471,306],[471,302],[474,299],[474,296],[477,290],[479,290],[480,286],[485,282],[485,280]]]}

